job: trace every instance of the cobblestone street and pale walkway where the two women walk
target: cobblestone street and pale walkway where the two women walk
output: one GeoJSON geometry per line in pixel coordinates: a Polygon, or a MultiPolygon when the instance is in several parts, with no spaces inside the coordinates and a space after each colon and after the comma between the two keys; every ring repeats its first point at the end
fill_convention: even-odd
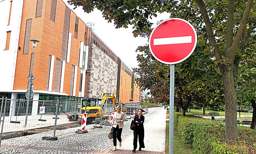
{"type": "MultiPolygon", "coordinates": [[[[163,107],[149,108],[149,113],[144,116],[145,148],[136,153],[163,154],[166,110],[163,107]]],[[[88,133],[84,134],[75,133],[80,127],[56,131],[58,137],[56,141],[42,141],[42,137],[52,137],[53,131],[4,139],[1,142],[0,152],[4,154],[130,154],[133,149],[133,131],[130,130],[130,123],[131,119],[124,122],[122,147],[119,148],[117,145],[117,151],[114,152],[112,152],[113,141],[107,137],[111,126],[93,129],[93,124],[86,126],[88,133]]]]}

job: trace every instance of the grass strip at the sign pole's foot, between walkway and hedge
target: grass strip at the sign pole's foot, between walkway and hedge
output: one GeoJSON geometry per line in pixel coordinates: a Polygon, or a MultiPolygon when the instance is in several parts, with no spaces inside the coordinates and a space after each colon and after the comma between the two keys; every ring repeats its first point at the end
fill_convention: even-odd
{"type": "MultiPolygon", "coordinates": [[[[169,117],[169,111],[166,116],[169,117]]],[[[165,154],[169,154],[169,121],[166,121],[165,154]]],[[[174,126],[174,154],[193,154],[193,149],[182,143],[176,126],[174,126]]]]}

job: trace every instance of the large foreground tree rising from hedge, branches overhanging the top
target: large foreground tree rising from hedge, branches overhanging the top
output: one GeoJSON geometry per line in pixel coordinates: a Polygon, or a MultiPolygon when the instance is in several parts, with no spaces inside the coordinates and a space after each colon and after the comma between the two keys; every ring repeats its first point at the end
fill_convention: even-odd
{"type": "Polygon", "coordinates": [[[235,85],[239,76],[237,68],[240,57],[244,54],[243,51],[238,50],[238,45],[246,33],[248,22],[255,22],[254,0],[70,0],[69,2],[75,6],[82,6],[87,13],[96,7],[102,11],[105,19],[109,22],[114,21],[117,28],[133,25],[135,36],[143,36],[149,32],[152,23],[148,19],[162,12],[171,13],[171,17],[187,15],[185,19],[192,21],[191,24],[197,31],[206,30],[207,41],[214,52],[224,85],[226,139],[237,139],[235,85]]]}

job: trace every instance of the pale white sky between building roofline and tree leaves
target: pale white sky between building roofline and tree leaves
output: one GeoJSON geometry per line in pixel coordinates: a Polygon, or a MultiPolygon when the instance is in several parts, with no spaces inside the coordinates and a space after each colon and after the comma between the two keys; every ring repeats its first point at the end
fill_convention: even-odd
{"type": "MultiPolygon", "coordinates": [[[[67,0],[63,0],[69,8],[76,13],[76,15],[87,25],[87,23],[95,23],[93,32],[100,37],[100,39],[128,66],[130,69],[137,68],[137,54],[135,52],[137,47],[148,44],[148,38],[134,37],[132,34],[132,26],[128,28],[116,29],[113,23],[108,23],[102,16],[102,13],[94,9],[91,13],[85,13],[82,7],[73,9],[73,5],[69,5],[67,0]]],[[[157,21],[161,19],[169,19],[168,13],[162,13],[158,17],[150,20],[153,28],[157,21]]]]}

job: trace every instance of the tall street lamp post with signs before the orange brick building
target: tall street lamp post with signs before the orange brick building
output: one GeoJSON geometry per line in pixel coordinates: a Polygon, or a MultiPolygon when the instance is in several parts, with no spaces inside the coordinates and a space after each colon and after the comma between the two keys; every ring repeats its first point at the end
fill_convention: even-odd
{"type": "Polygon", "coordinates": [[[29,107],[29,100],[33,98],[34,96],[34,92],[32,90],[32,87],[34,86],[32,84],[32,81],[35,79],[34,75],[33,75],[33,64],[34,64],[34,53],[35,53],[35,47],[37,46],[37,40],[30,40],[32,41],[32,45],[34,47],[33,49],[33,54],[32,54],[32,60],[31,60],[31,72],[28,76],[28,91],[26,92],[26,98],[28,99],[27,101],[27,109],[26,109],[26,119],[25,119],[25,127],[27,126],[27,120],[28,120],[28,107],[29,107]]]}

